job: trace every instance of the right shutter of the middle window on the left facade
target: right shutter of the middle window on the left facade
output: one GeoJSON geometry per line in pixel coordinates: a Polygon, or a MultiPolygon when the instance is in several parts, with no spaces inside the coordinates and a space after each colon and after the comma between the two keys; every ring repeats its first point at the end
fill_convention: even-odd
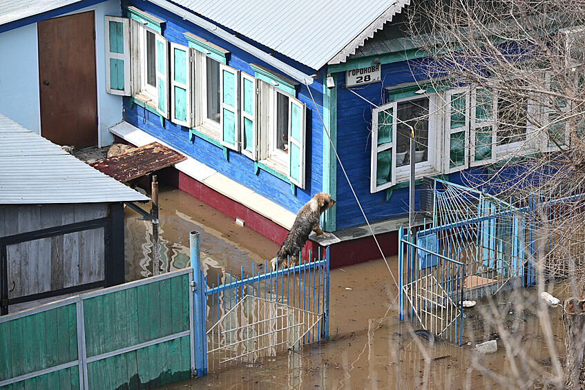
{"type": "Polygon", "coordinates": [[[240,151],[240,74],[220,64],[220,142],[240,151]]]}

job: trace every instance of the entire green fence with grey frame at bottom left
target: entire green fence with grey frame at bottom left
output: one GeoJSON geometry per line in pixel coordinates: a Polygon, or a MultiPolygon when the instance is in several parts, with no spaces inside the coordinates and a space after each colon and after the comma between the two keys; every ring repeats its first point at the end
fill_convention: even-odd
{"type": "Polygon", "coordinates": [[[190,378],[193,269],[0,318],[0,389],[148,388],[190,378]]]}

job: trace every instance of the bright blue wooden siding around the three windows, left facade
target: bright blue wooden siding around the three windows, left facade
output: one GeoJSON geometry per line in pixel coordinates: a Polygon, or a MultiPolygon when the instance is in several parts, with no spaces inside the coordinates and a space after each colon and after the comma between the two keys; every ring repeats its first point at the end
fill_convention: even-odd
{"type": "MultiPolygon", "coordinates": [[[[269,68],[267,64],[263,64],[262,61],[249,55],[249,53],[244,50],[218,39],[218,37],[215,37],[215,35],[212,35],[207,30],[199,28],[188,21],[184,21],[181,17],[148,3],[147,1],[130,1],[128,5],[135,6],[144,12],[148,12],[149,14],[164,20],[166,22],[166,27],[162,31],[162,35],[169,42],[189,46],[189,43],[183,34],[184,32],[191,32],[198,37],[207,39],[218,46],[229,50],[231,56],[229,57],[227,65],[232,68],[236,68],[252,76],[254,75],[254,72],[249,64],[256,63],[269,68]]],[[[290,64],[290,60],[288,60],[287,63],[290,64]]],[[[314,73],[314,70],[311,71],[304,66],[300,66],[300,64],[294,65],[307,74],[314,73]]],[[[316,80],[310,88],[311,93],[318,104],[318,110],[320,110],[321,115],[323,115],[323,77],[316,80]]],[[[291,192],[291,185],[289,182],[285,182],[284,180],[265,172],[265,170],[262,170],[261,168],[258,170],[258,175],[256,175],[254,162],[249,159],[249,157],[228,149],[228,159],[226,161],[224,158],[224,150],[222,148],[215,146],[200,137],[195,137],[194,142],[189,142],[188,128],[173,124],[171,121],[167,120],[163,121],[163,127],[161,126],[160,117],[150,113],[148,110],[144,110],[144,108],[137,104],[132,105],[128,98],[124,98],[124,120],[133,124],[137,128],[144,130],[146,133],[170,144],[182,151],[182,153],[218,170],[218,172],[236,182],[247,186],[263,197],[266,197],[267,199],[287,208],[289,211],[296,213],[298,208],[311,198],[311,195],[320,192],[323,188],[323,125],[320,122],[319,115],[314,111],[315,105],[311,100],[307,86],[301,85],[300,88],[298,88],[297,97],[300,101],[307,104],[307,139],[305,155],[305,189],[297,188],[296,195],[293,195],[291,192]]]]}

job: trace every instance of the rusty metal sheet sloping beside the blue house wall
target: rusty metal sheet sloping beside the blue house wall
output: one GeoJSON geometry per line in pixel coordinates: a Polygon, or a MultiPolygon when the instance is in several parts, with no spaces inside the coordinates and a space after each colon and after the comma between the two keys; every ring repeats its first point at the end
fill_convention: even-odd
{"type": "Polygon", "coordinates": [[[158,142],[152,142],[90,165],[124,183],[186,159],[185,155],[158,142]]]}

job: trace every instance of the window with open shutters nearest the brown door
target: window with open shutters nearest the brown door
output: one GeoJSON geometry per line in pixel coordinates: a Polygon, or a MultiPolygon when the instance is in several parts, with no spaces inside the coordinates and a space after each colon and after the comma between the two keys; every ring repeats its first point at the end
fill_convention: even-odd
{"type": "Polygon", "coordinates": [[[130,18],[106,16],[106,91],[133,96],[168,119],[168,43],[161,34],[164,22],[134,7],[127,11],[130,18]]]}

